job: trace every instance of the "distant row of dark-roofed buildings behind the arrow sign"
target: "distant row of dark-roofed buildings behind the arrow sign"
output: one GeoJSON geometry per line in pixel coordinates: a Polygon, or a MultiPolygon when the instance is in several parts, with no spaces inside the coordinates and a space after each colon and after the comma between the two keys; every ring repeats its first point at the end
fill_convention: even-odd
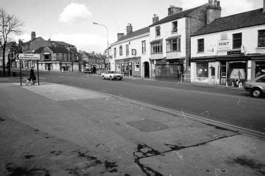
{"type": "MultiPolygon", "coordinates": [[[[10,61],[11,67],[20,67],[20,63],[16,61],[15,55],[16,53],[23,53],[40,54],[40,70],[79,72],[84,71],[85,68],[93,67],[97,70],[105,70],[106,56],[95,52],[77,51],[76,46],[72,44],[52,41],[51,39],[45,40],[42,37],[36,37],[35,32],[31,32],[30,41],[23,42],[19,39],[16,49],[12,48],[7,47],[5,57],[6,65],[10,61]]],[[[22,61],[21,68],[37,68],[36,64],[36,61],[22,61]]]]}

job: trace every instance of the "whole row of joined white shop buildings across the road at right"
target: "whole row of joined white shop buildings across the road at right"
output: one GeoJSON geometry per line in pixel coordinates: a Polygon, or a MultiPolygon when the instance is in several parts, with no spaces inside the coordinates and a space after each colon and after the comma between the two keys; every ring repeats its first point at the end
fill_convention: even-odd
{"type": "MultiPolygon", "coordinates": [[[[264,0],[265,4],[265,0],[264,0]]],[[[265,73],[265,7],[220,18],[220,1],[209,0],[168,15],[110,46],[110,69],[133,77],[232,85],[265,73]]]]}

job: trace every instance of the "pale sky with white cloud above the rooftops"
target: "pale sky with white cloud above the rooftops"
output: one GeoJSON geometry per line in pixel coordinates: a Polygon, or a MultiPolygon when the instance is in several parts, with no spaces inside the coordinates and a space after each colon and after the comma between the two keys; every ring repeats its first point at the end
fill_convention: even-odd
{"type": "MultiPolygon", "coordinates": [[[[13,40],[36,37],[73,44],[78,50],[103,53],[109,43],[117,41],[117,33],[126,34],[151,25],[154,14],[167,16],[170,6],[183,11],[208,3],[208,0],[0,0],[0,8],[23,22],[23,34],[13,40]],[[103,24],[94,25],[95,23],[103,24]]],[[[220,0],[221,16],[252,11],[263,7],[263,0],[220,0]]]]}

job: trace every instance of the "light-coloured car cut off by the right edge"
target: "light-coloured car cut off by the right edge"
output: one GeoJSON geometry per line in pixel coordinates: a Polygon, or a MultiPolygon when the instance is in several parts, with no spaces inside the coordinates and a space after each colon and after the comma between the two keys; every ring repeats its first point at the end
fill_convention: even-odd
{"type": "Polygon", "coordinates": [[[254,78],[243,84],[244,89],[254,97],[262,96],[265,93],[265,75],[254,78]]]}

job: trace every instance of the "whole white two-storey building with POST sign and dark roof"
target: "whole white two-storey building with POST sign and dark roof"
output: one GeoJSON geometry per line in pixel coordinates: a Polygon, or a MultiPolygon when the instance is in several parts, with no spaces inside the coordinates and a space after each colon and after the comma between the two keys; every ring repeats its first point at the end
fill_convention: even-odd
{"type": "Polygon", "coordinates": [[[217,18],[192,35],[192,82],[234,85],[265,74],[265,8],[217,18]]]}

